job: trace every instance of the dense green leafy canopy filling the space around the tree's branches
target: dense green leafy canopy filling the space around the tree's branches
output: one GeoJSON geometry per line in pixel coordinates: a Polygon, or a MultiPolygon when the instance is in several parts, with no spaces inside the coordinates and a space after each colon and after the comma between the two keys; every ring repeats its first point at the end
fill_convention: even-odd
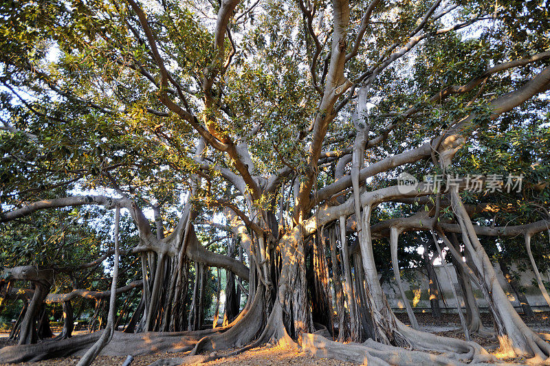
{"type": "MultiPolygon", "coordinates": [[[[345,41],[346,52],[351,51],[358,36],[368,4],[352,4],[348,39],[340,40],[345,41]]],[[[303,183],[311,171],[305,152],[312,142],[309,126],[314,127],[316,117],[332,113],[319,107],[325,95],[316,90],[325,87],[324,77],[333,56],[331,5],[328,1],[315,2],[316,14],[326,15],[316,21],[316,26],[318,38],[327,47],[317,49],[295,2],[267,0],[261,2],[261,10],[250,13],[241,23],[233,16],[228,27],[231,38],[225,37],[223,52],[214,49],[212,32],[215,20],[211,12],[216,12],[219,4],[214,3],[213,9],[210,5],[166,0],[152,1],[146,9],[159,54],[169,77],[179,85],[173,90],[177,88],[172,84],[161,86],[162,75],[146,41],[148,35],[125,1],[1,1],[0,122],[12,130],[0,130],[0,211],[75,192],[123,192],[140,207],[158,207],[164,226],[173,228],[181,214],[181,199],[189,191],[189,178],[197,173],[204,178],[197,194],[190,198],[197,217],[214,220],[219,202],[224,200],[246,207],[247,198],[239,196],[217,171],[224,168],[237,173],[234,163],[227,154],[207,146],[203,163],[209,166],[199,166],[195,159],[197,131],[187,119],[162,104],[164,93],[196,115],[197,123],[203,117],[215,118],[234,144],[248,144],[252,174],[259,176],[262,185],[281,169],[291,170],[288,179],[283,179],[286,184],[303,183]],[[318,63],[311,70],[314,57],[318,63]],[[226,60],[228,65],[224,65],[226,60]],[[214,105],[206,108],[203,82],[213,75],[217,78],[208,98],[214,105]]],[[[240,3],[235,14],[250,5],[250,1],[240,3]]],[[[345,66],[345,78],[360,80],[395,47],[408,42],[431,6],[430,1],[380,2],[358,47],[358,56],[345,66]]],[[[496,119],[492,119],[491,103],[518,89],[548,65],[548,60],[496,73],[471,91],[450,95],[444,102],[432,103],[430,98],[446,88],[467,84],[489,67],[547,51],[549,29],[548,9],[535,0],[459,1],[456,10],[429,20],[425,28],[428,35],[421,43],[369,79],[367,100],[371,108],[360,116],[364,119],[361,123],[371,125],[370,139],[388,132],[388,124],[395,123],[395,128],[382,144],[369,148],[366,165],[425,144],[472,115],[463,132],[474,135],[456,155],[450,173],[524,176],[524,189],[519,193],[463,194],[465,203],[494,207],[472,218],[497,226],[540,220],[544,217],[540,207],[548,207],[550,202],[549,99],[532,98],[496,119]],[[474,22],[472,16],[480,19],[474,22]],[[463,22],[472,25],[437,34],[437,30],[463,22]],[[417,113],[408,119],[399,117],[412,106],[417,113]]],[[[351,102],[339,106],[327,126],[323,151],[338,155],[350,148],[356,96],[350,95],[351,102]]],[[[316,170],[312,197],[336,181],[336,163],[334,157],[322,161],[316,170]]],[[[419,179],[443,173],[423,159],[373,176],[364,190],[394,185],[397,174],[404,171],[419,179]]],[[[345,172],[349,173],[349,166],[345,172]]],[[[350,196],[350,192],[342,192],[338,199],[350,196]]],[[[289,202],[288,214],[292,215],[292,198],[287,192],[283,198],[289,202]]],[[[253,200],[252,208],[276,212],[281,208],[280,199],[280,192],[261,194],[253,200]]],[[[313,207],[311,215],[317,209],[313,207]]],[[[371,223],[423,209],[426,207],[418,203],[385,203],[375,210],[371,223]]],[[[243,211],[256,215],[245,208],[243,211]]],[[[450,218],[451,210],[443,207],[439,220],[450,218]]],[[[59,262],[64,266],[90,262],[111,248],[111,222],[111,215],[100,209],[36,212],[1,227],[0,262],[4,266],[45,267],[59,262]]],[[[131,249],[138,238],[129,216],[122,216],[120,227],[122,249],[131,249]]],[[[533,238],[541,269],[547,268],[548,262],[544,235],[533,238]]],[[[225,253],[225,246],[215,241],[220,238],[214,230],[199,235],[201,242],[210,243],[210,249],[225,253]]],[[[400,240],[401,267],[420,266],[417,238],[404,234],[400,240]]],[[[483,244],[495,259],[500,255],[522,258],[517,238],[483,240],[483,244]]],[[[374,251],[377,266],[387,280],[392,276],[387,240],[375,240],[374,251]]],[[[109,259],[85,276],[60,275],[56,291],[77,285],[106,288],[111,266],[109,259]]],[[[120,282],[140,277],[139,271],[135,257],[124,256],[120,282]]],[[[211,293],[210,273],[208,277],[211,293]]]]}

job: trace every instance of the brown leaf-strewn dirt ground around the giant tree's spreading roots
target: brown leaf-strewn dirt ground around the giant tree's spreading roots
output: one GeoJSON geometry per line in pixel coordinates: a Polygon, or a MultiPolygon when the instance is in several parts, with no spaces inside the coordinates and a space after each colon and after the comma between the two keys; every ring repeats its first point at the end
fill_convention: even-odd
{"type": "MultiPolygon", "coordinates": [[[[451,336],[454,338],[464,339],[463,332],[459,331],[459,317],[457,314],[443,314],[441,319],[432,318],[430,313],[418,313],[417,320],[422,330],[439,334],[441,336],[451,336]]],[[[397,314],[397,317],[408,323],[408,317],[404,313],[397,314]]],[[[492,321],[489,314],[482,314],[483,323],[487,328],[492,328],[492,321]]],[[[538,312],[533,318],[524,318],[526,323],[538,332],[550,332],[550,312],[538,312]]],[[[0,347],[6,345],[12,345],[12,341],[8,341],[7,334],[0,334],[0,347]]],[[[492,354],[498,356],[498,340],[496,337],[483,338],[481,336],[474,336],[473,341],[481,344],[492,354]]],[[[230,353],[232,350],[221,352],[219,355],[230,353]]],[[[185,354],[151,354],[146,356],[136,356],[131,363],[131,366],[146,366],[160,358],[172,358],[182,357],[185,354]]],[[[53,358],[48,361],[41,361],[39,363],[20,363],[19,365],[32,365],[32,366],[71,366],[78,363],[79,357],[68,358],[53,358]]],[[[93,365],[122,365],[126,357],[120,356],[98,356],[93,365]]],[[[500,359],[500,362],[525,364],[525,358],[514,359],[500,359]]],[[[290,347],[279,345],[263,345],[261,347],[248,350],[242,354],[236,356],[230,356],[226,358],[220,358],[216,361],[211,361],[203,365],[300,365],[300,366],[314,366],[314,365],[353,365],[352,363],[345,363],[338,360],[331,360],[329,358],[315,358],[305,354],[305,352],[293,350],[290,347]]]]}

